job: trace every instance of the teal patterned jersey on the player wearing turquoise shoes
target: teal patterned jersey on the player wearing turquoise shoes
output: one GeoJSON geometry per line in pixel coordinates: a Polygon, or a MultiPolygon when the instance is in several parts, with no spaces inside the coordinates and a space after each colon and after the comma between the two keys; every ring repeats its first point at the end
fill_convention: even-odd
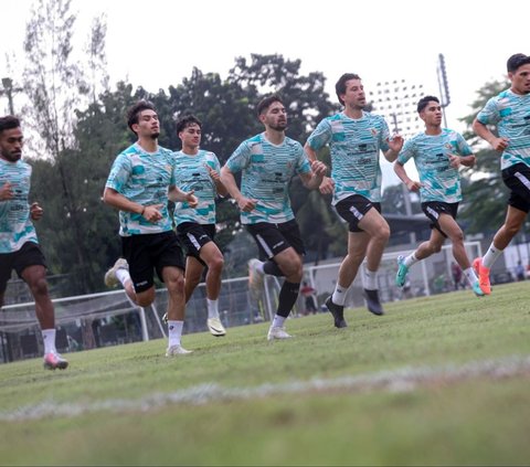
{"type": "Polygon", "coordinates": [[[439,135],[421,132],[409,139],[398,156],[398,162],[404,164],[413,158],[422,187],[422,202],[442,201],[457,203],[462,201],[460,174],[451,167],[448,153],[470,156],[471,148],[456,131],[443,128],[439,135]]]}

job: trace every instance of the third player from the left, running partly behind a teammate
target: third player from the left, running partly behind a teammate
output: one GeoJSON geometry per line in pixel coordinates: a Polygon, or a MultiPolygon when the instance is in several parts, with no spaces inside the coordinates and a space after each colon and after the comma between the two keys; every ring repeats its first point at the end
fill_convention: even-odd
{"type": "Polygon", "coordinates": [[[215,197],[229,194],[221,181],[221,164],[218,157],[200,149],[202,123],[193,115],[186,115],[177,121],[177,134],[182,149],[174,153],[176,183],[181,190],[193,191],[199,199],[197,208],[187,202],[174,206],[174,222],[181,243],[187,251],[184,293],[186,303],[206,269],[208,329],[212,336],[224,336],[219,317],[219,294],[223,272],[223,254],[214,243],[215,237],[215,197]]]}

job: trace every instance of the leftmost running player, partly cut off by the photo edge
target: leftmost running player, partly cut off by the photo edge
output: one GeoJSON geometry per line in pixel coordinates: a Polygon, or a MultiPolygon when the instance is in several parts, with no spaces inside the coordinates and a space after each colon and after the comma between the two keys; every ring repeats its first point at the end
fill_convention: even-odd
{"type": "Polygon", "coordinates": [[[47,291],[46,262],[33,226],[43,209],[28,201],[32,168],[21,160],[22,147],[20,120],[11,115],[0,118],[0,308],[14,269],[35,299],[44,368],[64,370],[68,362],[55,348],[55,312],[47,291]]]}

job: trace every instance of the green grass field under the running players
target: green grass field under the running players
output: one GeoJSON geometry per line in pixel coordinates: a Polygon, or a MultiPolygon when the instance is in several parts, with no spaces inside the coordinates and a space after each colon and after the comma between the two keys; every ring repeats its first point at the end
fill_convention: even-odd
{"type": "Polygon", "coordinates": [[[530,282],[0,365],[1,465],[529,465],[530,282]]]}

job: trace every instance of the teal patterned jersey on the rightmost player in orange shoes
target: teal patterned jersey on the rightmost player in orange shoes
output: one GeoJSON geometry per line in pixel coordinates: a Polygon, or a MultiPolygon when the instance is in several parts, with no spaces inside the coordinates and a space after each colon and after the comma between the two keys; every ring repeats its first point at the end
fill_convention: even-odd
{"type": "Polygon", "coordinates": [[[521,162],[530,167],[530,94],[521,96],[506,89],[487,102],[477,120],[497,125],[499,137],[509,139],[500,158],[502,170],[521,162]]]}

